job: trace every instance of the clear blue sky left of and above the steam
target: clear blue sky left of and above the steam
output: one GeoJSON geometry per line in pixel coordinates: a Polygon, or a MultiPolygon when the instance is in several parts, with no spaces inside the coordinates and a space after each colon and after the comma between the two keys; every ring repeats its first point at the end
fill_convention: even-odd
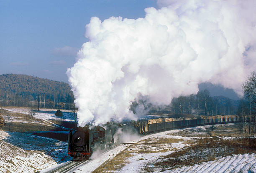
{"type": "Polygon", "coordinates": [[[156,0],[0,0],[0,74],[67,82],[92,16],[144,17],[156,0]]]}

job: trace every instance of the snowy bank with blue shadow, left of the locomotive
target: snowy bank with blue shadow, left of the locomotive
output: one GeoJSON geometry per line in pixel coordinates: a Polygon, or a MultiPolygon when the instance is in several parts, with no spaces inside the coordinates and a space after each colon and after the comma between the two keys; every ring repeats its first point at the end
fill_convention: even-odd
{"type": "Polygon", "coordinates": [[[0,130],[0,173],[32,173],[71,160],[67,143],[0,130]]]}

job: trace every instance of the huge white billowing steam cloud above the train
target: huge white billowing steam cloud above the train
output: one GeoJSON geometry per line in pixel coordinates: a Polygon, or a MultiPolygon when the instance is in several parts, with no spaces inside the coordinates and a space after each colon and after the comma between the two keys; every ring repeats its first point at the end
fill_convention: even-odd
{"type": "Polygon", "coordinates": [[[132,118],[138,93],[169,103],[206,81],[241,91],[256,64],[255,2],[159,0],[145,18],[92,17],[67,70],[78,125],[132,118]]]}

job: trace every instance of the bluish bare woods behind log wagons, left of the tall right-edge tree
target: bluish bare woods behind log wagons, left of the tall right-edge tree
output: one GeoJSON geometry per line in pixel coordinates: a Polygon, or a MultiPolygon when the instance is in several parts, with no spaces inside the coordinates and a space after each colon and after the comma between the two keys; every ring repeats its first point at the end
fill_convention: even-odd
{"type": "Polygon", "coordinates": [[[174,97],[168,105],[154,105],[147,97],[140,96],[130,106],[133,113],[149,112],[150,114],[197,114],[197,115],[232,115],[237,114],[240,101],[227,97],[210,97],[208,90],[174,97]]]}

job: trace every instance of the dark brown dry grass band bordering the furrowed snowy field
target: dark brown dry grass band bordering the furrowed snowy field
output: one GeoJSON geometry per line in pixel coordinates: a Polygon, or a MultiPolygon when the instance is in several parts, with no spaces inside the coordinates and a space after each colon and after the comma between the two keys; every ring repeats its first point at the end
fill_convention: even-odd
{"type": "Polygon", "coordinates": [[[156,168],[171,170],[215,160],[220,156],[244,153],[256,153],[256,138],[237,137],[230,140],[223,140],[220,137],[200,138],[195,140],[195,145],[163,156],[153,164],[148,163],[143,172],[154,172],[156,168]]]}

